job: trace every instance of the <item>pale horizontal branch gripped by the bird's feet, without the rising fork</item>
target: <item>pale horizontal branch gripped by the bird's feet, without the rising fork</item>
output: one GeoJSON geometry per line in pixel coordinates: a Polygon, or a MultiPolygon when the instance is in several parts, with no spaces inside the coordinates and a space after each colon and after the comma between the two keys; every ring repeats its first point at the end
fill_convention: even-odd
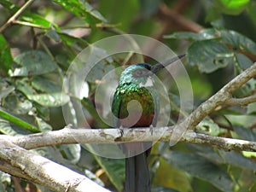
{"type": "MultiPolygon", "coordinates": [[[[56,144],[73,143],[126,143],[146,141],[169,142],[173,127],[158,128],[124,128],[120,129],[70,129],[49,131],[32,135],[10,137],[0,136],[0,140],[8,140],[22,148],[32,149],[56,144]],[[135,137],[136,136],[136,137],[135,137]]],[[[233,138],[213,137],[194,131],[187,131],[181,138],[182,142],[207,144],[224,150],[254,151],[256,143],[233,138]]]]}

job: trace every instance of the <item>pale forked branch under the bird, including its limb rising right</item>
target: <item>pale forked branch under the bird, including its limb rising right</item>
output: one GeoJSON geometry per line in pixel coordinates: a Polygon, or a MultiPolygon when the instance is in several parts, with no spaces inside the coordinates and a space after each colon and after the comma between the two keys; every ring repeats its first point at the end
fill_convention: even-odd
{"type": "MultiPolygon", "coordinates": [[[[183,120],[178,127],[185,127],[193,130],[202,119],[220,105],[229,104],[227,101],[232,101],[232,92],[239,89],[243,84],[246,84],[249,79],[256,76],[256,63],[247,68],[243,73],[236,76],[228,84],[226,84],[215,95],[210,97],[206,102],[203,102],[189,117],[183,120]]],[[[239,100],[241,101],[242,98],[239,100]]],[[[243,101],[254,101],[255,96],[247,96],[243,101]]],[[[243,102],[244,104],[245,102],[243,102]]],[[[5,137],[10,142],[19,145],[22,148],[39,148],[43,146],[67,143],[117,143],[120,142],[137,142],[137,141],[169,141],[172,136],[173,127],[162,128],[139,128],[139,129],[124,129],[124,134],[121,134],[119,129],[63,129],[61,131],[50,131],[47,133],[38,133],[28,136],[10,137],[0,136],[0,139],[5,137]],[[136,137],[135,137],[136,136],[136,137]]],[[[185,130],[186,130],[185,129],[185,130]]],[[[188,132],[188,131],[187,131],[188,132]]],[[[191,132],[190,132],[191,133],[191,132]]],[[[236,140],[232,138],[212,137],[193,132],[188,137],[188,134],[181,138],[184,142],[211,144],[225,150],[248,150],[256,151],[255,143],[236,140]],[[207,139],[205,139],[207,138],[207,139]],[[224,145],[219,141],[230,144],[224,145]]]]}

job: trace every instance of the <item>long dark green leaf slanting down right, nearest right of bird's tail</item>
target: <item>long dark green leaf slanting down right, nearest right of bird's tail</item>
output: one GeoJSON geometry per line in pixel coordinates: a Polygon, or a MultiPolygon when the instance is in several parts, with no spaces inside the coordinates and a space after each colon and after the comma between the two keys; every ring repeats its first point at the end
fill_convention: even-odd
{"type": "Polygon", "coordinates": [[[185,154],[177,151],[166,153],[163,156],[172,166],[189,172],[194,177],[206,180],[225,192],[233,191],[234,183],[230,176],[212,162],[195,154],[185,154]]]}

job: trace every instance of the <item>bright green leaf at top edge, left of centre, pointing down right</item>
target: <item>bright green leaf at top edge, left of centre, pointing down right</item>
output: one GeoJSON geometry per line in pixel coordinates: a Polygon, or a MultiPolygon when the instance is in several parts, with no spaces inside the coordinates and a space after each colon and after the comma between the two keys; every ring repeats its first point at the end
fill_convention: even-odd
{"type": "Polygon", "coordinates": [[[90,4],[84,0],[54,0],[54,2],[58,3],[64,9],[67,9],[73,13],[73,15],[78,16],[90,25],[95,25],[96,20],[107,22],[107,20],[98,11],[96,11],[96,9],[92,8],[90,4]]]}

